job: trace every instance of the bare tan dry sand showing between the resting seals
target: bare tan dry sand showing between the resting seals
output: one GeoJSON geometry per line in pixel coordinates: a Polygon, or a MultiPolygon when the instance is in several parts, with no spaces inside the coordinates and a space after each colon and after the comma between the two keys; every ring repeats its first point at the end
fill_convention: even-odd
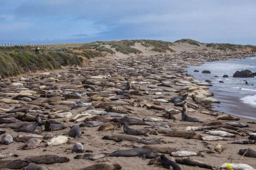
{"type": "MultiPolygon", "coordinates": [[[[161,57],[161,56],[158,56],[161,57]]],[[[191,55],[190,57],[193,58],[193,56],[191,55]]],[[[153,58],[153,57],[152,57],[153,58]]],[[[168,57],[167,57],[168,58],[168,57]]],[[[158,67],[150,67],[148,65],[148,63],[146,62],[147,59],[150,58],[145,58],[145,59],[140,59],[141,62],[139,65],[136,65],[134,67],[136,68],[150,68],[152,71],[154,70],[162,70],[163,68],[165,68],[165,70],[162,70],[163,73],[162,74],[154,74],[152,73],[152,76],[162,76],[162,75],[172,75],[172,74],[178,74],[177,71],[172,71],[172,70],[167,70],[166,68],[174,68],[174,64],[177,63],[178,65],[183,65],[185,66],[188,62],[184,60],[181,60],[184,57],[177,57],[176,59],[172,60],[172,66],[171,65],[164,65],[164,62],[161,62],[158,67]]],[[[186,58],[186,57],[185,57],[186,58]]],[[[198,61],[205,61],[208,60],[209,58],[206,59],[198,59],[198,61]]],[[[221,59],[221,58],[220,58],[221,59]]],[[[136,58],[128,58],[126,60],[127,62],[132,62],[136,60],[136,58]]],[[[188,59],[189,60],[189,59],[188,59]]],[[[196,59],[195,59],[196,60],[196,59]]],[[[156,62],[157,60],[154,59],[154,61],[156,62]]],[[[191,61],[190,63],[192,64],[198,64],[198,61],[191,61]]],[[[96,74],[95,68],[98,68],[100,63],[102,63],[103,61],[92,61],[90,67],[85,67],[82,69],[85,70],[90,70],[92,69],[92,74],[96,74]],[[97,66],[97,67],[94,67],[97,66]]],[[[124,62],[123,60],[116,60],[115,63],[122,63],[124,62]]],[[[114,63],[113,59],[108,59],[108,62],[105,62],[104,65],[102,66],[106,66],[108,65],[108,68],[111,68],[112,71],[117,71],[114,72],[116,76],[122,76],[122,73],[118,73],[118,69],[116,65],[112,65],[111,63],[114,63]]],[[[155,63],[157,65],[157,63],[155,63]]],[[[130,67],[129,64],[128,65],[121,65],[121,67],[130,67]]],[[[177,68],[177,67],[176,67],[177,68]]],[[[104,68],[100,68],[103,72],[104,72],[104,68]]],[[[180,67],[180,69],[184,69],[184,67],[180,67]]],[[[74,72],[74,69],[72,69],[74,72]]],[[[80,71],[80,70],[76,70],[76,71],[80,71]]],[[[76,72],[75,71],[75,72],[76,72]]],[[[54,75],[61,73],[63,75],[63,73],[68,73],[68,70],[61,70],[61,71],[56,71],[54,72],[54,75]]],[[[79,72],[77,72],[76,74],[78,74],[79,72]]],[[[35,76],[35,75],[31,75],[31,76],[35,76]]],[[[16,78],[20,78],[16,77],[16,78]]],[[[55,77],[56,78],[56,77],[55,77]]],[[[180,77],[182,78],[182,77],[180,77]]],[[[71,79],[71,78],[70,78],[71,79]]],[[[82,81],[83,79],[81,79],[82,81]]],[[[55,85],[59,85],[59,86],[63,86],[63,85],[70,85],[73,81],[67,80],[66,82],[61,81],[60,83],[54,83],[55,85]]],[[[146,89],[146,91],[149,91],[150,89],[147,87],[148,85],[137,85],[140,86],[140,88],[142,89],[146,89]]],[[[169,88],[169,89],[180,89],[181,86],[176,86],[176,85],[172,85],[173,88],[169,88]]],[[[101,88],[101,87],[97,87],[97,88],[101,88]]],[[[162,95],[144,95],[144,96],[136,96],[133,95],[132,99],[130,101],[134,101],[135,99],[145,99],[146,101],[153,103],[151,100],[154,97],[159,97],[159,96],[164,96],[167,98],[171,98],[177,95],[177,93],[171,93],[171,92],[162,92],[162,95]]],[[[83,98],[87,99],[89,97],[87,97],[86,95],[82,95],[83,98]]],[[[191,99],[188,99],[189,102],[194,103],[191,99]]],[[[10,105],[6,105],[4,103],[0,103],[0,106],[15,106],[14,104],[10,104],[10,105]]],[[[165,109],[168,108],[172,108],[174,107],[173,103],[161,103],[161,107],[164,107],[165,109]]],[[[73,114],[74,113],[79,113],[80,111],[83,111],[86,107],[82,107],[79,109],[72,109],[70,110],[73,114]]],[[[128,106],[128,108],[133,109],[132,113],[128,114],[129,117],[134,117],[134,118],[138,118],[138,119],[143,119],[144,117],[157,117],[159,115],[162,115],[162,113],[164,113],[164,111],[156,111],[156,110],[152,110],[152,109],[145,109],[142,107],[132,107],[132,106],[128,106]]],[[[181,107],[176,107],[178,109],[182,109],[181,107]]],[[[216,117],[211,116],[211,115],[205,115],[205,114],[201,114],[200,111],[204,110],[204,107],[202,107],[200,105],[200,109],[196,110],[194,112],[190,112],[188,113],[188,115],[190,115],[191,117],[197,117],[199,118],[201,121],[204,121],[205,123],[210,123],[213,121],[216,121],[216,117]]],[[[187,126],[201,126],[202,123],[189,123],[189,122],[184,122],[181,121],[181,115],[174,115],[174,117],[176,117],[176,120],[168,120],[168,119],[164,119],[166,122],[166,124],[168,124],[170,126],[170,128],[172,129],[176,129],[176,130],[185,130],[185,128],[187,126]]],[[[65,125],[68,126],[72,126],[72,125],[79,125],[80,123],[73,123],[73,122],[63,122],[64,118],[60,118],[60,119],[55,119],[56,121],[62,122],[65,125]]],[[[241,123],[247,123],[249,121],[249,119],[243,119],[241,118],[239,122],[241,123]]],[[[234,122],[234,121],[221,121],[221,122],[234,122]]],[[[154,125],[156,123],[150,123],[150,125],[154,125]]],[[[249,124],[250,127],[248,129],[250,130],[255,130],[256,125],[252,125],[249,124]]],[[[131,128],[142,128],[142,127],[146,127],[146,126],[139,126],[139,125],[132,125],[130,126],[131,128]]],[[[77,142],[81,142],[84,146],[85,150],[92,150],[94,153],[96,152],[113,152],[115,150],[119,150],[119,149],[130,149],[136,146],[144,146],[144,144],[140,144],[138,142],[130,142],[130,141],[122,141],[122,142],[114,142],[112,140],[102,140],[102,136],[106,135],[106,134],[123,134],[123,130],[122,128],[120,129],[115,129],[115,130],[110,130],[110,131],[106,131],[106,132],[98,132],[97,131],[98,127],[93,127],[93,128],[89,128],[89,127],[84,127],[82,128],[82,130],[84,131],[84,134],[82,134],[82,137],[79,139],[75,139],[72,138],[71,140],[69,140],[68,143],[66,144],[61,144],[59,146],[52,146],[52,147],[40,147],[40,148],[36,148],[36,149],[32,149],[32,150],[21,150],[20,148],[24,145],[24,143],[22,142],[13,142],[12,144],[9,145],[0,145],[0,150],[1,152],[14,152],[16,154],[19,155],[19,159],[25,159],[26,156],[38,156],[38,155],[42,155],[42,154],[55,154],[58,156],[65,156],[68,157],[70,159],[70,162],[67,163],[62,163],[62,164],[50,164],[50,165],[45,165],[48,169],[51,170],[74,170],[74,169],[78,169],[78,168],[82,168],[82,167],[86,167],[86,166],[90,166],[96,163],[107,163],[107,164],[113,164],[113,163],[118,163],[122,166],[123,170],[160,170],[160,169],[164,169],[161,165],[147,165],[148,162],[150,161],[150,159],[146,159],[143,160],[140,157],[106,157],[106,158],[100,158],[98,160],[82,160],[82,159],[74,159],[74,156],[76,156],[76,153],[71,153],[71,149],[72,146],[77,143],[77,142]]],[[[44,129],[44,128],[43,128],[44,129]]],[[[18,134],[26,134],[25,132],[15,132],[14,130],[10,129],[10,128],[6,128],[5,129],[7,132],[11,134],[12,136],[17,136],[18,134]]],[[[70,130],[70,128],[66,128],[64,130],[58,130],[58,131],[54,131],[52,132],[53,134],[57,135],[57,134],[63,134],[63,133],[67,133],[70,130]]],[[[43,132],[43,134],[45,134],[46,132],[43,132]]],[[[200,134],[202,134],[202,131],[198,132],[200,134]]],[[[206,136],[206,134],[202,134],[203,136],[206,136]]],[[[2,135],[1,135],[2,136],[2,135]]],[[[0,137],[1,137],[0,136],[0,137]]],[[[244,139],[244,138],[248,138],[248,136],[239,136],[236,135],[235,138],[227,138],[229,141],[202,141],[202,140],[196,140],[196,139],[185,139],[185,138],[177,138],[177,137],[166,137],[163,134],[158,134],[156,135],[149,135],[150,138],[154,137],[154,138],[161,138],[162,140],[166,141],[166,143],[163,144],[159,144],[160,146],[169,146],[171,148],[176,148],[177,150],[189,150],[189,151],[194,151],[194,152],[198,152],[198,151],[202,151],[201,152],[201,156],[193,156],[192,158],[196,159],[196,160],[200,160],[203,161],[205,163],[208,163],[212,166],[218,166],[220,164],[223,163],[246,163],[249,164],[250,166],[256,168],[256,162],[254,162],[255,158],[250,158],[250,157],[241,157],[238,154],[239,149],[245,149],[245,148],[252,148],[253,150],[256,150],[256,146],[255,144],[250,144],[250,145],[242,145],[242,144],[228,144],[228,142],[232,141],[232,140],[240,140],[240,139],[244,139]],[[220,154],[218,154],[216,151],[214,151],[214,148],[216,146],[216,144],[218,143],[222,143],[224,146],[224,151],[220,154]]],[[[44,143],[41,143],[42,145],[44,145],[44,143]]],[[[8,157],[5,159],[1,159],[1,160],[14,160],[16,158],[14,157],[8,157]]],[[[174,158],[175,159],[175,158],[174,158]]],[[[186,166],[186,165],[180,165],[180,167],[183,170],[198,170],[198,169],[204,169],[204,168],[198,168],[198,167],[192,167],[192,166],[186,166]]]]}

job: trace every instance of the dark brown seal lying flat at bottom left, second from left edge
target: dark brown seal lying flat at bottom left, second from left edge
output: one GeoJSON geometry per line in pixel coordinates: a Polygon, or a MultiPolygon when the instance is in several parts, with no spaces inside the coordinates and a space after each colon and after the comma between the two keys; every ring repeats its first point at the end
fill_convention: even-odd
{"type": "Polygon", "coordinates": [[[69,158],[60,157],[57,155],[40,155],[40,156],[27,156],[26,160],[30,160],[36,164],[55,164],[55,163],[64,163],[69,162],[69,158]]]}

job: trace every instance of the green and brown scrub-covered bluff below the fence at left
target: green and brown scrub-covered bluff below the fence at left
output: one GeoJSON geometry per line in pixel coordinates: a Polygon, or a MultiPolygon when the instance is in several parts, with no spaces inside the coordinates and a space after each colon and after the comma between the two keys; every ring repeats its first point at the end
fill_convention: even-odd
{"type": "Polygon", "coordinates": [[[0,74],[2,77],[14,76],[27,71],[59,69],[60,66],[81,65],[82,57],[72,53],[50,52],[23,54],[0,51],[0,74]]]}

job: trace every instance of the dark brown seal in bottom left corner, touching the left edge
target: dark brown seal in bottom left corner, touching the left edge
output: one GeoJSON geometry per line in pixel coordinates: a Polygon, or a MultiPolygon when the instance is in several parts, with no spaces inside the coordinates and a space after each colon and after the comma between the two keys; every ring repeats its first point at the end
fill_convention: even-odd
{"type": "Polygon", "coordinates": [[[25,166],[28,166],[30,163],[29,160],[4,160],[0,161],[0,169],[9,168],[9,169],[22,169],[25,166]]]}

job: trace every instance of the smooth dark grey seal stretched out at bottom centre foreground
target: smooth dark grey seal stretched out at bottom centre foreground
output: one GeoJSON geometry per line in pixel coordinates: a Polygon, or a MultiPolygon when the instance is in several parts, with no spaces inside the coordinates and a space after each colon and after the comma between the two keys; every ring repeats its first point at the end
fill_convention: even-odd
{"type": "Polygon", "coordinates": [[[142,158],[156,158],[159,156],[158,153],[151,152],[147,148],[138,147],[132,148],[128,150],[116,150],[110,154],[110,156],[122,156],[122,157],[134,157],[134,156],[141,156],[142,158]]]}

